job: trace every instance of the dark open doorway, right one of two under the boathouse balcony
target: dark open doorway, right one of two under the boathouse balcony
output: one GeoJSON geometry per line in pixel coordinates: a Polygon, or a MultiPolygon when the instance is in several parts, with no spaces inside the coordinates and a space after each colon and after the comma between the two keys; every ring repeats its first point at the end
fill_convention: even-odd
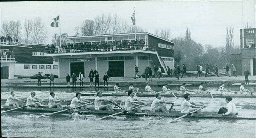
{"type": "Polygon", "coordinates": [[[113,77],[123,77],[124,76],[124,61],[109,61],[108,68],[113,77]]]}

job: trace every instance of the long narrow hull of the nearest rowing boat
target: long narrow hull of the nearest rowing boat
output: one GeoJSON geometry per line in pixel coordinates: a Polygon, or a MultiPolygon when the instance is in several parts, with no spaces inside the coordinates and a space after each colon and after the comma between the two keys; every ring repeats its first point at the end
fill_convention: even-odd
{"type": "MultiPolygon", "coordinates": [[[[1,110],[10,110],[14,109],[16,107],[13,106],[2,106],[1,110]]],[[[64,109],[67,109],[68,107],[64,107],[64,109]]],[[[58,112],[63,109],[57,109],[57,108],[47,108],[47,106],[42,106],[40,108],[36,107],[28,107],[28,108],[20,108],[15,111],[10,112],[28,112],[28,113],[53,113],[58,112]]],[[[70,114],[73,111],[79,113],[79,114],[94,114],[94,115],[109,115],[114,113],[122,112],[123,109],[114,109],[114,111],[99,111],[94,110],[93,107],[88,107],[88,110],[80,110],[80,109],[74,109],[74,110],[68,110],[62,112],[62,114],[70,114]]],[[[203,112],[204,114],[198,114],[194,113],[191,116],[188,116],[190,118],[219,118],[219,119],[246,119],[246,120],[256,120],[255,116],[242,116],[242,115],[228,115],[228,116],[222,116],[221,114],[218,114],[218,112],[203,112]]],[[[127,116],[157,116],[157,117],[180,117],[182,115],[185,115],[186,113],[181,113],[180,111],[171,111],[171,113],[151,113],[150,110],[142,110],[142,112],[128,112],[128,113],[121,113],[120,115],[127,115],[127,116]]]]}

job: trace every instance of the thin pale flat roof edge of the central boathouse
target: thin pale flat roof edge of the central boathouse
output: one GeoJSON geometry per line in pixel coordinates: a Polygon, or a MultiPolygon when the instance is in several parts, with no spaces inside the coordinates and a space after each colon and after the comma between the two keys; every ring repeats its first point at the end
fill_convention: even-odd
{"type": "MultiPolygon", "coordinates": [[[[120,35],[131,35],[131,34],[135,34],[135,33],[116,33],[116,34],[102,34],[102,35],[69,36],[68,38],[69,39],[71,39],[71,38],[76,39],[76,38],[90,38],[90,37],[108,37],[108,36],[118,36],[118,35],[120,36],[120,35]]],[[[156,38],[159,38],[159,39],[162,39],[162,40],[165,40],[167,42],[175,44],[174,42],[172,42],[170,40],[166,40],[164,38],[161,38],[159,36],[156,36],[156,35],[148,33],[148,32],[139,32],[139,33],[136,33],[136,34],[148,34],[148,35],[154,36],[156,38]]]]}

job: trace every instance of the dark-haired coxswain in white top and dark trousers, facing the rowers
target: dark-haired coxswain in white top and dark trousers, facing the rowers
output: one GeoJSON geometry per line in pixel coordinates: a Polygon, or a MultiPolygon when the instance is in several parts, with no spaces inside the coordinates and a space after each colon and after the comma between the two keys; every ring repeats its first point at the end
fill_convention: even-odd
{"type": "Polygon", "coordinates": [[[220,108],[218,114],[222,114],[223,116],[227,115],[238,115],[237,110],[236,110],[236,105],[231,101],[232,97],[231,96],[226,96],[225,97],[225,102],[228,103],[228,109],[225,107],[220,108]]]}

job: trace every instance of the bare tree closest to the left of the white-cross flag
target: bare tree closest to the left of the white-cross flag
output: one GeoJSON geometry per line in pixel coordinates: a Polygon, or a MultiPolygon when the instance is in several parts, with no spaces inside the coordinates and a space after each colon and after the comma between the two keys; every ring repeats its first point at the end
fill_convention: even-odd
{"type": "Polygon", "coordinates": [[[47,29],[43,23],[42,18],[37,17],[33,20],[31,28],[31,39],[33,43],[44,43],[47,38],[47,29]]]}

